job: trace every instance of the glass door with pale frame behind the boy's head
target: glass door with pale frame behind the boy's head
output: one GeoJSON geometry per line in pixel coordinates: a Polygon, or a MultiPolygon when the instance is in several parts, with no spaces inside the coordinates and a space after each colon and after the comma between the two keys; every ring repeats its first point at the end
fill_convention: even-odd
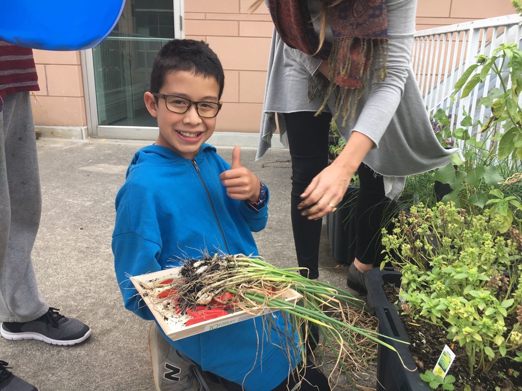
{"type": "Polygon", "coordinates": [[[182,0],[126,0],[109,36],[85,51],[89,129],[93,137],[155,139],[143,101],[160,48],[183,37],[182,0]],[[91,57],[91,58],[89,58],[91,57]]]}

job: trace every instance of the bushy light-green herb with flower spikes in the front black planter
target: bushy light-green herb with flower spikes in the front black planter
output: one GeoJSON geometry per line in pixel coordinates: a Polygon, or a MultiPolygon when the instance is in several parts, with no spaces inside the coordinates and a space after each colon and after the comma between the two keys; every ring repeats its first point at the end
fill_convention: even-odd
{"type": "Polygon", "coordinates": [[[385,262],[402,273],[402,311],[443,327],[470,376],[501,357],[522,361],[522,237],[514,227],[504,237],[502,225],[487,210],[419,203],[382,232],[385,262]]]}

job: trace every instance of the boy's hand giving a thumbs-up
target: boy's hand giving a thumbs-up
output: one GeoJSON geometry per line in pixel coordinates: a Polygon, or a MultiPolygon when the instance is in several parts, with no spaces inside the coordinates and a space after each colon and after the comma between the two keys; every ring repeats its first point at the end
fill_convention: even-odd
{"type": "Polygon", "coordinates": [[[241,165],[241,147],[236,145],[232,151],[230,169],[219,175],[221,185],[227,188],[227,195],[234,200],[259,200],[259,179],[251,170],[241,165]]]}

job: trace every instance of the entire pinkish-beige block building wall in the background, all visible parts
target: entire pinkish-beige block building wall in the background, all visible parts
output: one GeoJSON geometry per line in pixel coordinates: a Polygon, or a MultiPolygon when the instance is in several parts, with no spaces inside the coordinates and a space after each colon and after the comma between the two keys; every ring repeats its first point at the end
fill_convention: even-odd
{"type": "MultiPolygon", "coordinates": [[[[208,42],[225,71],[223,108],[216,131],[259,130],[272,22],[252,0],[186,0],[185,37],[208,42]]],[[[511,0],[419,0],[417,30],[515,13],[511,0]]],[[[34,94],[37,127],[48,136],[82,137],[86,95],[79,52],[34,51],[40,90],[34,94]]]]}

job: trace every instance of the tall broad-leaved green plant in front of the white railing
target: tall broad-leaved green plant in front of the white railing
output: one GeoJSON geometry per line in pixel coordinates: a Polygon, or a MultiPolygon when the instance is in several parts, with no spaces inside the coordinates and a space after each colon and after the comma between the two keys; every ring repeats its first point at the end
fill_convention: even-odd
{"type": "MultiPolygon", "coordinates": [[[[452,118],[438,109],[433,119],[438,122],[437,138],[443,146],[455,142],[464,161],[457,155],[452,163],[437,170],[435,179],[449,184],[452,192],[443,201],[452,201],[470,212],[489,209],[501,217],[501,232],[522,223],[522,51],[516,43],[501,44],[491,56],[479,55],[477,63],[467,68],[455,84],[454,104],[482,84],[487,88],[491,77],[500,80],[500,88],[492,88],[478,101],[489,117],[472,118],[462,109],[462,120],[453,129],[452,118]],[[457,166],[455,169],[454,165],[457,166]]],[[[478,110],[477,110],[478,112],[478,110]]]]}

